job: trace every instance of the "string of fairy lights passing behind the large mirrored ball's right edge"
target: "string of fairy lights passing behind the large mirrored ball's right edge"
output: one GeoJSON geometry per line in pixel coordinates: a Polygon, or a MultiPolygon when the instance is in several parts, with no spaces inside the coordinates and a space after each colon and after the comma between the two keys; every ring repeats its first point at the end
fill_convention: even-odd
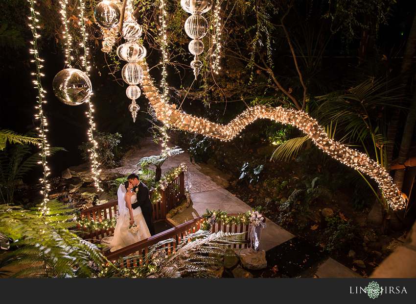
{"type": "MultiPolygon", "coordinates": [[[[82,59],[82,65],[85,68],[85,74],[87,74],[87,76],[89,76],[89,71],[91,69],[91,66],[89,66],[89,61],[87,61],[88,55],[89,55],[89,48],[87,47],[87,43],[86,43],[86,37],[88,36],[88,33],[85,30],[85,20],[84,20],[84,2],[82,0],[80,0],[80,16],[79,16],[79,25],[81,28],[81,36],[82,36],[82,42],[80,43],[80,46],[84,48],[84,56],[81,57],[82,59]]],[[[88,138],[90,140],[90,142],[92,143],[92,148],[91,148],[91,161],[92,161],[92,165],[91,165],[91,171],[92,171],[92,179],[94,180],[94,185],[95,188],[99,191],[103,191],[103,189],[100,187],[100,179],[99,179],[99,175],[101,172],[101,169],[98,170],[98,166],[100,165],[100,163],[97,161],[97,157],[98,154],[95,151],[95,149],[98,149],[98,143],[97,141],[94,139],[94,135],[93,135],[93,131],[95,130],[95,123],[92,121],[92,112],[94,112],[92,103],[90,101],[90,98],[88,98],[87,100],[88,105],[89,105],[89,111],[86,112],[88,120],[90,122],[90,129],[88,130],[88,138]]]]}

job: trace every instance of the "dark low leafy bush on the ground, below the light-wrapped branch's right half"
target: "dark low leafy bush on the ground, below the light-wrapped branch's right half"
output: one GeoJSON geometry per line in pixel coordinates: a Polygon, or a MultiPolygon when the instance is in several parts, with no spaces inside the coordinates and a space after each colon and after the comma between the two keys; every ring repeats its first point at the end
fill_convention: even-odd
{"type": "Polygon", "coordinates": [[[357,231],[356,226],[342,220],[339,214],[325,217],[327,228],[324,229],[323,235],[318,236],[317,246],[324,244],[324,250],[332,252],[342,249],[349,244],[354,238],[357,231]]]}

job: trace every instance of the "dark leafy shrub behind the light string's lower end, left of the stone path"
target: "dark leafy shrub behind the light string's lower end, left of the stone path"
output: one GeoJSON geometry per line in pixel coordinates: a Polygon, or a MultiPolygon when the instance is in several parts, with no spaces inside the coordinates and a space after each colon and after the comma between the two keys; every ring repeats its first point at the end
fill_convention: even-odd
{"type": "MultiPolygon", "coordinates": [[[[121,134],[119,133],[106,133],[97,132],[94,136],[94,140],[97,142],[95,152],[98,154],[97,160],[103,168],[114,168],[119,163],[121,156],[120,152],[117,152],[116,147],[120,143],[121,134]]],[[[90,141],[78,146],[78,149],[82,151],[82,158],[88,162],[91,162],[92,143],[90,141]]]]}

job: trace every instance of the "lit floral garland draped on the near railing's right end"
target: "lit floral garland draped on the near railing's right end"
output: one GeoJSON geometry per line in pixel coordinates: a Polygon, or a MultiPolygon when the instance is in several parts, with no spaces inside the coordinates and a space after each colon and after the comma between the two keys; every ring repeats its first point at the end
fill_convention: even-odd
{"type": "Polygon", "coordinates": [[[238,213],[237,215],[228,215],[227,211],[221,211],[220,209],[217,211],[209,211],[207,209],[207,213],[204,213],[202,216],[204,217],[204,222],[202,222],[201,226],[201,229],[203,230],[209,230],[212,225],[218,222],[221,222],[228,227],[239,224],[253,224],[258,226],[264,219],[256,209],[247,211],[246,213],[238,213]]]}

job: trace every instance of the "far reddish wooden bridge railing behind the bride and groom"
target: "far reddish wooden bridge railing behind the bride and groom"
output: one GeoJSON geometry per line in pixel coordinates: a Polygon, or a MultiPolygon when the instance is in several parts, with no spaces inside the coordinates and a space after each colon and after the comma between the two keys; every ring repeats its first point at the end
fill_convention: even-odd
{"type": "MultiPolygon", "coordinates": [[[[149,190],[149,194],[152,195],[153,191],[155,190],[149,190]]],[[[166,214],[185,195],[184,173],[180,173],[168,184],[165,190],[160,191],[161,199],[153,204],[153,222],[166,219],[166,214]]],[[[118,202],[112,201],[81,210],[81,219],[87,217],[94,222],[103,222],[112,219],[117,214],[117,210],[118,202]]],[[[81,227],[79,224],[77,224],[77,230],[80,231],[83,239],[88,239],[91,242],[99,242],[101,238],[114,233],[114,227],[91,230],[88,227],[81,227]]]]}

